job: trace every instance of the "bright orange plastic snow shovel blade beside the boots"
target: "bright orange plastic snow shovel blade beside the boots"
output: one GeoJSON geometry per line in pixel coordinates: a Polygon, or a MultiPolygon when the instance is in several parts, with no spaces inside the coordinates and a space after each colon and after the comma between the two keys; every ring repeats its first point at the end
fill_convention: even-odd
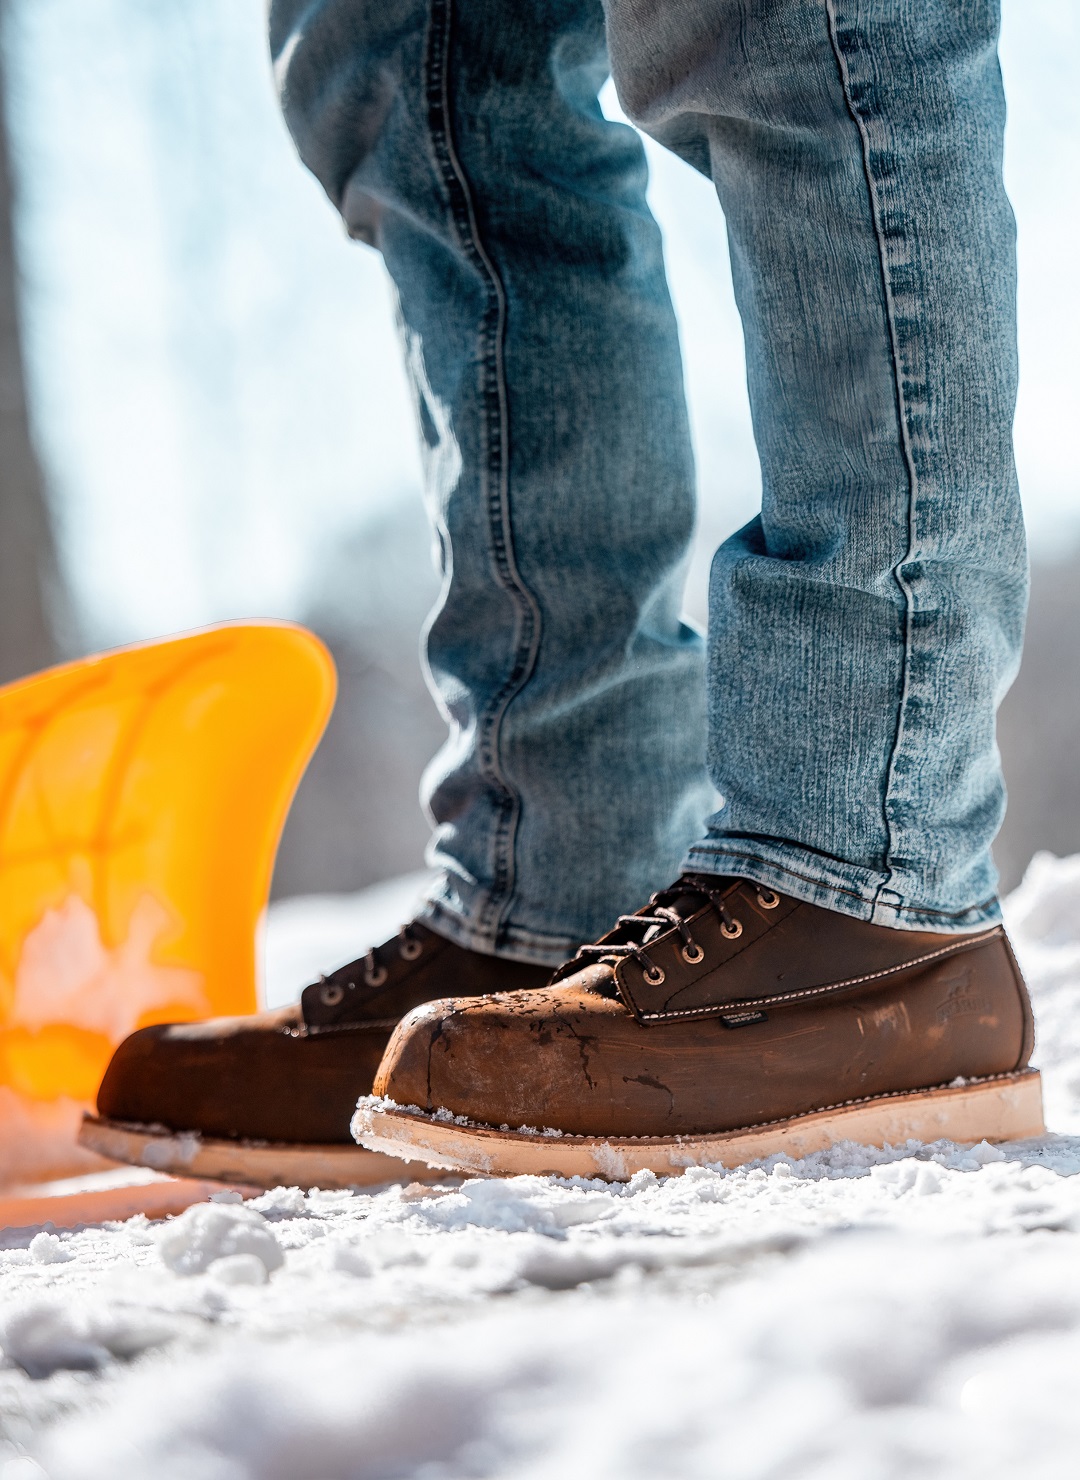
{"type": "Polygon", "coordinates": [[[334,667],[288,623],[0,688],[0,1185],[75,1148],[136,1027],[256,1006],[256,925],[334,667]]]}

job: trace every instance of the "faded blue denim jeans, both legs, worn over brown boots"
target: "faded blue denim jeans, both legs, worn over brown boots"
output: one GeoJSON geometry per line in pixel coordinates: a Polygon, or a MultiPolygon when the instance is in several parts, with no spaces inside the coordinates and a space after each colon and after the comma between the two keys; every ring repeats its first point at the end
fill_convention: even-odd
{"type": "Polygon", "coordinates": [[[300,155],[399,297],[444,574],[442,934],[558,962],[686,860],[882,925],[997,918],[1027,561],[996,37],[997,0],[274,0],[300,155]],[[608,68],[731,241],[763,499],[704,645],[608,68]]]}

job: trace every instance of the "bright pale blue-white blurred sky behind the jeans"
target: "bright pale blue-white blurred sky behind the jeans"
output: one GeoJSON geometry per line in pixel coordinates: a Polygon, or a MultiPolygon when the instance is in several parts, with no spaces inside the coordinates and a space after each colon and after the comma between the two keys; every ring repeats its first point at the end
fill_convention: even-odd
{"type": "MultiPolygon", "coordinates": [[[[9,0],[27,357],[87,639],[293,616],[419,459],[379,258],[277,112],[263,0],[9,0]]],[[[1080,537],[1080,4],[1005,0],[1018,459],[1036,554],[1080,537]]],[[[651,148],[707,552],[756,508],[723,223],[651,148]]]]}

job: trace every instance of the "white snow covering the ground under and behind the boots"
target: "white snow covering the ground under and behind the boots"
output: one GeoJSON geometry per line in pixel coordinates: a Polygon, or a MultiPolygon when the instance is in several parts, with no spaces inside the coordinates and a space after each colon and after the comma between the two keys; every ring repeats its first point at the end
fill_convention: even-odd
{"type": "MultiPolygon", "coordinates": [[[[328,918],[278,912],[268,981],[328,918]]],[[[1040,1143],[6,1234],[0,1480],[1074,1474],[1080,858],[1036,860],[1009,924],[1040,1143]]]]}

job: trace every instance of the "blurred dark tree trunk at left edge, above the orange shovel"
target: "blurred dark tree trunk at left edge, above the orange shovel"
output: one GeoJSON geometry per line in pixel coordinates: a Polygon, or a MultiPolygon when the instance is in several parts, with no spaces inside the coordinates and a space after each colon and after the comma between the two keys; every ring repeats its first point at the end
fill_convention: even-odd
{"type": "MultiPolygon", "coordinates": [[[[0,0],[0,34],[7,6],[0,0]]],[[[30,441],[0,49],[0,682],[55,663],[59,598],[44,481],[30,441]]]]}

